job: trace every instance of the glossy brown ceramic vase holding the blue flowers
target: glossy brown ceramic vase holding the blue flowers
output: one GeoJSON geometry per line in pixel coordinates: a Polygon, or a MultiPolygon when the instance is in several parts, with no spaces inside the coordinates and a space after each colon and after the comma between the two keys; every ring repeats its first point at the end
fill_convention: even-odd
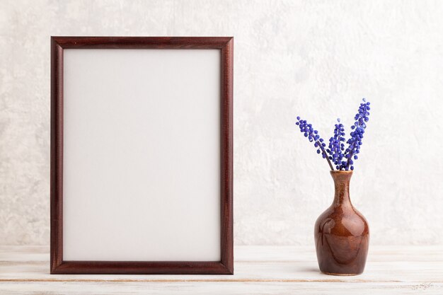
{"type": "Polygon", "coordinates": [[[321,272],[335,275],[361,274],[369,247],[369,226],[349,197],[352,171],[330,171],[335,184],[333,204],[318,216],[314,229],[321,272]]]}

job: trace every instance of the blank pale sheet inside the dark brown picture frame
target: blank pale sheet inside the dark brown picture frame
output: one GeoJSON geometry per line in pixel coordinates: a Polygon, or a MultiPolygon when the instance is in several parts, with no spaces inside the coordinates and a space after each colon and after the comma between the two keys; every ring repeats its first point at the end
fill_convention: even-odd
{"type": "Polygon", "coordinates": [[[64,260],[220,260],[220,66],[64,50],[64,260]]]}

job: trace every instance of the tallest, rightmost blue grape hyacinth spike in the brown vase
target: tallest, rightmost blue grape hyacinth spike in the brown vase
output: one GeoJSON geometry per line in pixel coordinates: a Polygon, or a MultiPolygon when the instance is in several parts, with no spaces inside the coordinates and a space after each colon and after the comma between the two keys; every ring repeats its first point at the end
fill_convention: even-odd
{"type": "Polygon", "coordinates": [[[357,160],[357,154],[359,154],[360,146],[362,146],[364,129],[366,129],[366,123],[369,121],[369,110],[371,110],[369,105],[371,105],[371,103],[363,98],[363,103],[360,103],[358,112],[354,117],[355,123],[351,127],[353,131],[350,133],[350,139],[346,142],[349,146],[345,150],[346,161],[344,162],[345,166],[343,166],[345,170],[354,170],[352,157],[354,157],[354,160],[357,160]]]}

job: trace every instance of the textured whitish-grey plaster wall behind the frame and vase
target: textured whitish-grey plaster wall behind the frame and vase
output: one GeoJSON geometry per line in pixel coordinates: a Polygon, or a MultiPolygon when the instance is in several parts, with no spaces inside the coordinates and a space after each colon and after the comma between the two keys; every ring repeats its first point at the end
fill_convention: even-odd
{"type": "Polygon", "coordinates": [[[333,183],[295,117],[329,138],[362,97],[351,196],[372,243],[443,243],[442,16],[442,1],[0,0],[0,243],[49,243],[50,35],[235,37],[236,244],[313,244],[333,183]]]}

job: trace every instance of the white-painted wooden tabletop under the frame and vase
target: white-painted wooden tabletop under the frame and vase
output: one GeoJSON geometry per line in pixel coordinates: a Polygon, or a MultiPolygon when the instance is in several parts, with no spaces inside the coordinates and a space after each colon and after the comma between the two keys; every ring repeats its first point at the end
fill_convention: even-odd
{"type": "Polygon", "coordinates": [[[364,274],[318,271],[313,247],[238,246],[235,274],[50,275],[49,248],[0,246],[0,294],[443,294],[442,246],[369,247],[364,274]]]}

